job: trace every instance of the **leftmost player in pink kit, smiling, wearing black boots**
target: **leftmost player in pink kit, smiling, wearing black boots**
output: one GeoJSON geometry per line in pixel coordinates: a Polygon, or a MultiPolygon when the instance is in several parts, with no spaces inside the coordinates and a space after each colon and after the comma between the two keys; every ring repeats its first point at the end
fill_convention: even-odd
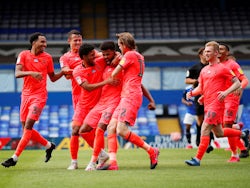
{"type": "Polygon", "coordinates": [[[45,162],[50,160],[51,153],[56,147],[54,143],[49,142],[33,129],[33,126],[46,105],[48,97],[47,75],[52,82],[55,82],[64,75],[64,72],[54,72],[53,59],[50,54],[45,52],[47,40],[44,34],[33,33],[30,36],[30,44],[30,50],[24,50],[18,55],[15,69],[16,78],[23,78],[24,81],[20,105],[23,135],[14,155],[2,162],[5,167],[16,165],[18,157],[30,140],[37,141],[47,148],[45,162]]]}

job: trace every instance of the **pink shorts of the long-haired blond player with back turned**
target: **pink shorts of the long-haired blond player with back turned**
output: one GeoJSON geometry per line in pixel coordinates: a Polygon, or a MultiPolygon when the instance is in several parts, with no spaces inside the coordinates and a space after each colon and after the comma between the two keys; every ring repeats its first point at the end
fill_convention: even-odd
{"type": "Polygon", "coordinates": [[[142,100],[134,100],[128,98],[121,98],[121,101],[114,111],[112,118],[120,122],[128,122],[130,126],[135,124],[138,110],[140,109],[142,100]]]}

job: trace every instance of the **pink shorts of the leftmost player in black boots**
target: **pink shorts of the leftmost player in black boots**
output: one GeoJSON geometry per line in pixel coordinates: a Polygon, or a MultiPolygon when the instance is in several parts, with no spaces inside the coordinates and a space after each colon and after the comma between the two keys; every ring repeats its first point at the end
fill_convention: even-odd
{"type": "Polygon", "coordinates": [[[20,120],[24,122],[29,119],[37,121],[46,105],[47,98],[39,96],[22,96],[20,105],[20,120]]]}

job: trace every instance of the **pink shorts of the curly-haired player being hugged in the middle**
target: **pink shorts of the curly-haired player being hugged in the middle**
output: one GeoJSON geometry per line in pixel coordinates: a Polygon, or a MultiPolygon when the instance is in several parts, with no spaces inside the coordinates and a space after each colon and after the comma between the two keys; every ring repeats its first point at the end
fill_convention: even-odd
{"type": "Polygon", "coordinates": [[[108,106],[97,104],[86,116],[84,124],[96,128],[99,123],[109,124],[112,114],[118,103],[108,104],[108,106]]]}

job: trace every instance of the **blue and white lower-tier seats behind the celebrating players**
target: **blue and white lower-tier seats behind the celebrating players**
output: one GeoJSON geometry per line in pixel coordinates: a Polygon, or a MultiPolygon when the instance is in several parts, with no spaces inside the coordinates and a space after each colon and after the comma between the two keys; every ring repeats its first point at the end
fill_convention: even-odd
{"type": "MultiPolygon", "coordinates": [[[[70,137],[72,116],[71,105],[47,105],[34,128],[45,137],[70,137]]],[[[159,135],[155,112],[141,107],[132,129],[140,136],[159,135]]],[[[21,135],[19,106],[0,106],[0,137],[19,138],[21,135]]]]}

